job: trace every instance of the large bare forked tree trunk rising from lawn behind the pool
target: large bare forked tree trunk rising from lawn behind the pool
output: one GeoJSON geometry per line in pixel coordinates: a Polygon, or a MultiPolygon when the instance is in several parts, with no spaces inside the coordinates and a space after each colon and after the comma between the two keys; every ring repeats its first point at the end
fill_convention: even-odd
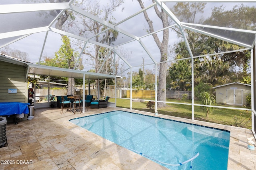
{"type": "MultiPolygon", "coordinates": [[[[138,0],[138,2],[140,4],[140,7],[142,9],[144,9],[145,7],[144,7],[142,0],[138,0]]],[[[154,0],[152,0],[152,2],[154,3],[154,0]]],[[[160,18],[160,20],[162,20],[163,28],[168,27],[169,26],[168,16],[164,12],[164,10],[159,11],[157,6],[154,6],[154,10],[155,10],[158,18],[160,18]]],[[[143,13],[144,13],[144,17],[148,23],[150,33],[153,33],[154,32],[153,22],[148,17],[146,10],[143,11],[143,13]]],[[[167,53],[168,53],[169,30],[168,29],[163,30],[162,42],[160,41],[160,39],[158,38],[156,33],[153,33],[152,36],[154,38],[154,41],[156,42],[156,45],[160,49],[160,67],[159,67],[159,77],[158,77],[157,100],[163,101],[163,102],[158,102],[157,106],[164,107],[164,106],[166,106],[166,103],[164,103],[164,102],[166,101],[166,75],[167,75],[166,61],[168,59],[167,53]]]]}

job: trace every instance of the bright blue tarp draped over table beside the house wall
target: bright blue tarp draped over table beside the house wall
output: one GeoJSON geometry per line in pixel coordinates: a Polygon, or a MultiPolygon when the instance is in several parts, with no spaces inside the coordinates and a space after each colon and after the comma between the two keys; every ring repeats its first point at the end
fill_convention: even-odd
{"type": "Polygon", "coordinates": [[[14,115],[29,113],[28,109],[29,103],[20,103],[20,102],[0,102],[0,115],[14,115]]]}

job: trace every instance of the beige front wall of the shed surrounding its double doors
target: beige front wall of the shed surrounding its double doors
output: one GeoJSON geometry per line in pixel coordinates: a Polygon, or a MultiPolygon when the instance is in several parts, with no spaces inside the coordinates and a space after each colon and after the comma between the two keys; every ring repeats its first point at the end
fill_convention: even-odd
{"type": "Polygon", "coordinates": [[[226,104],[227,103],[227,89],[243,89],[243,104],[246,105],[246,96],[251,93],[251,87],[242,84],[230,84],[216,88],[216,102],[226,104]]]}

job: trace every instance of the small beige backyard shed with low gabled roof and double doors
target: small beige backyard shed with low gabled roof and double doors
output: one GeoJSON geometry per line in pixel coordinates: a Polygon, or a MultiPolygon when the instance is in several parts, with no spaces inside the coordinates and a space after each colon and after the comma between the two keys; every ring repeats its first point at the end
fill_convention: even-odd
{"type": "Polygon", "coordinates": [[[216,89],[216,103],[231,105],[246,105],[246,96],[251,93],[251,85],[240,82],[232,82],[216,89]]]}

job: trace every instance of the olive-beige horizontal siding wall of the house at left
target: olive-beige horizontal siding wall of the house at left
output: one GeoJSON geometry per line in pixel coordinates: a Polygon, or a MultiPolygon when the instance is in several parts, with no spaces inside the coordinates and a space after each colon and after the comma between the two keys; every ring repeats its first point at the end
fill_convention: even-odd
{"type": "Polygon", "coordinates": [[[28,102],[28,82],[24,66],[0,62],[0,102],[28,102]],[[17,93],[8,93],[17,89],[17,93]]]}

